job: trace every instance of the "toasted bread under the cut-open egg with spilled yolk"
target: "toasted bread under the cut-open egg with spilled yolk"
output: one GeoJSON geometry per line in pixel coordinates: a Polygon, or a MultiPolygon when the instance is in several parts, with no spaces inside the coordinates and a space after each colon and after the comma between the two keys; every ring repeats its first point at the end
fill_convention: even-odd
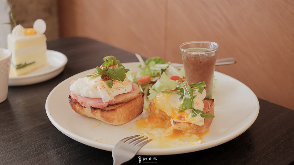
{"type": "MultiPolygon", "coordinates": [[[[205,99],[205,100],[208,101],[209,103],[209,111],[207,113],[214,115],[214,99],[205,99]]],[[[156,114],[156,116],[160,116],[161,118],[170,120],[171,125],[174,129],[181,130],[183,132],[191,133],[191,134],[199,134],[199,133],[207,131],[213,120],[213,118],[211,119],[205,118],[204,125],[199,126],[184,120],[173,119],[162,110],[156,109],[155,104],[153,103],[153,100],[150,101],[150,105],[149,105],[149,108],[147,108],[146,110],[146,114],[148,114],[149,116],[151,114],[156,114]]]]}

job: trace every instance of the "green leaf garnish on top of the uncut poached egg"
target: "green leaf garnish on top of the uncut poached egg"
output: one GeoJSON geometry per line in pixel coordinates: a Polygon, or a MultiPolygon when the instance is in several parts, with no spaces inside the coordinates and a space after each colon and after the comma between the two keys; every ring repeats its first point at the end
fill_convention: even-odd
{"type": "Polygon", "coordinates": [[[121,62],[116,60],[116,57],[106,56],[103,60],[104,63],[100,67],[96,67],[96,74],[86,75],[85,77],[100,75],[101,79],[106,82],[109,88],[113,86],[113,79],[119,81],[125,80],[126,72],[128,72],[129,69],[125,69],[121,62]]]}

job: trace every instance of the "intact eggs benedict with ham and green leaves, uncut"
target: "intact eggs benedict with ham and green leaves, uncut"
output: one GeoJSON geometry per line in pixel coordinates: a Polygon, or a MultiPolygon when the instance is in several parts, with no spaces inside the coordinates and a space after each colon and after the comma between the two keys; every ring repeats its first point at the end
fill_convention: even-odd
{"type": "Polygon", "coordinates": [[[103,60],[94,73],[71,82],[69,103],[80,115],[121,125],[142,113],[144,93],[126,77],[129,69],[116,57],[103,60]]]}

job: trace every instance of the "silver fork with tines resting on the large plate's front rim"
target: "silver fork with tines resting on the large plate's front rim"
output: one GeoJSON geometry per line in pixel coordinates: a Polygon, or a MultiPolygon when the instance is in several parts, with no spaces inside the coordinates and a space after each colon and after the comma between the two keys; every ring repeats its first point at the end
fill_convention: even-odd
{"type": "Polygon", "coordinates": [[[122,164],[126,161],[131,160],[137,152],[152,139],[144,136],[138,137],[140,135],[135,135],[131,137],[126,137],[119,141],[112,149],[113,165],[122,164]],[[143,138],[143,139],[142,139],[143,138]],[[144,141],[146,140],[146,141],[144,141]],[[137,145],[138,144],[138,145],[137,145]]]}

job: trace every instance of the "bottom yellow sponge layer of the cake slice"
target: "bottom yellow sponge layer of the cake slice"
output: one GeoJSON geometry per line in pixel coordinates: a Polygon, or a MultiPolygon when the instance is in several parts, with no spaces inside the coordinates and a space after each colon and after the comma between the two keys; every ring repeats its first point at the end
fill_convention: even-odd
{"type": "Polygon", "coordinates": [[[44,66],[45,64],[47,63],[47,59],[44,58],[43,60],[39,61],[39,62],[35,62],[33,64],[30,64],[24,68],[21,68],[21,69],[15,69],[13,64],[11,64],[10,68],[12,72],[14,72],[14,74],[16,76],[20,76],[20,75],[24,75],[24,74],[28,74],[42,66],[44,66]]]}

